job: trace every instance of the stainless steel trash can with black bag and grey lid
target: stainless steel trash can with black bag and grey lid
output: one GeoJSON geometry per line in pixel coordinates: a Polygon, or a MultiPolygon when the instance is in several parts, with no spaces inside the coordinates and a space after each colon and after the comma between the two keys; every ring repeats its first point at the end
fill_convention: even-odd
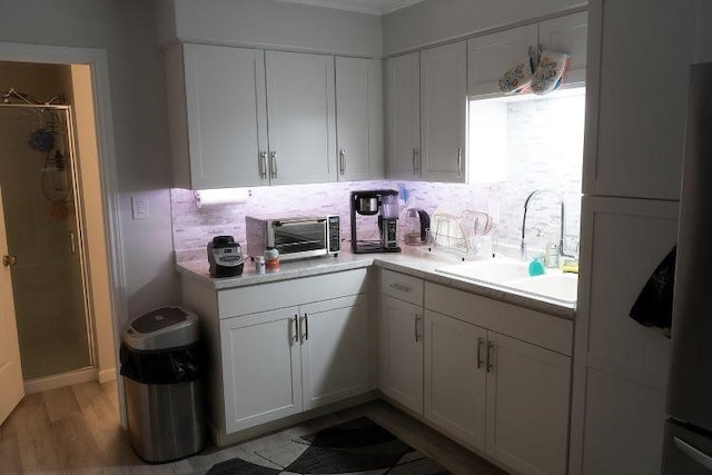
{"type": "Polygon", "coordinates": [[[136,453],[164,463],[205,446],[202,349],[198,318],[161,307],[131,320],[122,335],[121,375],[136,453]]]}

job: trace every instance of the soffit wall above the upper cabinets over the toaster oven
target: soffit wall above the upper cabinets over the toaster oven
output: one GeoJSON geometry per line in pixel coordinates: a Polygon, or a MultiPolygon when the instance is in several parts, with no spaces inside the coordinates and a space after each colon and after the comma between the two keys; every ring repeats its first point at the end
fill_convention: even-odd
{"type": "MultiPolygon", "coordinates": [[[[169,0],[161,0],[162,2],[169,0]]],[[[175,0],[181,41],[380,57],[380,17],[277,0],[175,0]]],[[[161,6],[169,12],[171,6],[161,6]]],[[[169,28],[160,28],[161,36],[169,28]]],[[[165,40],[166,38],[161,38],[165,40]]]]}

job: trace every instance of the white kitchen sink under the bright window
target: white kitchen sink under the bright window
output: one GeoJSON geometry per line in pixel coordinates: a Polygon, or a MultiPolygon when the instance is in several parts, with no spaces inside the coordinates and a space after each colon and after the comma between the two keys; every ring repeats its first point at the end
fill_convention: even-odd
{"type": "Polygon", "coordinates": [[[444,266],[436,271],[477,284],[494,285],[534,298],[564,305],[576,303],[578,276],[558,269],[546,269],[541,276],[528,275],[528,263],[511,258],[494,258],[444,266]]]}

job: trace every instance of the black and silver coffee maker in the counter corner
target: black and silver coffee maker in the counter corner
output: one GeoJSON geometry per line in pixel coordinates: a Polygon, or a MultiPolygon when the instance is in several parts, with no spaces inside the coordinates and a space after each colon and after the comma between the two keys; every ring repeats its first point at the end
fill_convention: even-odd
{"type": "Polygon", "coordinates": [[[398,247],[398,191],[352,191],[352,250],[354,254],[400,253],[398,247]],[[370,224],[356,217],[373,216],[370,224]],[[376,229],[377,235],[376,235],[376,229]],[[377,236],[377,238],[376,238],[377,236]]]}

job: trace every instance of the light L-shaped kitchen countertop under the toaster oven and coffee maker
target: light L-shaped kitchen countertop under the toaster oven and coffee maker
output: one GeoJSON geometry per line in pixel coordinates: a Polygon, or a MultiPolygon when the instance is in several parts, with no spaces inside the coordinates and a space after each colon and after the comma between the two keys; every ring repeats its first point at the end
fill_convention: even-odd
{"type": "Polygon", "coordinates": [[[239,277],[212,278],[209,274],[207,259],[189,260],[176,265],[178,273],[215,290],[245,287],[279,280],[297,279],[320,274],[338,273],[369,266],[378,266],[396,273],[407,274],[423,280],[439,284],[458,290],[477,294],[495,300],[506,301],[520,307],[542,311],[556,317],[573,319],[575,306],[567,306],[544,298],[532,297],[526,294],[503,289],[496,285],[484,285],[436,271],[445,265],[455,264],[453,259],[441,258],[419,251],[406,249],[404,253],[383,254],[352,254],[342,251],[338,257],[322,257],[312,259],[287,260],[280,263],[278,271],[257,274],[250,260],[245,263],[245,269],[239,277]]]}

